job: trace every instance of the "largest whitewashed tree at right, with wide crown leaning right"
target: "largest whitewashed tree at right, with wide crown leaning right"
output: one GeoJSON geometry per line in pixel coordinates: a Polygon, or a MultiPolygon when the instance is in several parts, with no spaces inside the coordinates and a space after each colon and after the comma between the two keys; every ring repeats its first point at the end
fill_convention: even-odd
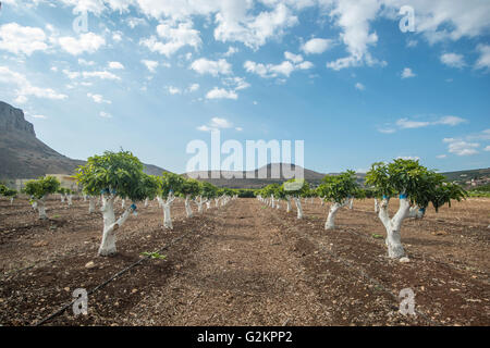
{"type": "Polygon", "coordinates": [[[429,203],[438,212],[445,203],[451,207],[451,200],[460,201],[467,195],[462,187],[449,183],[443,175],[427,170],[418,161],[403,159],[372,164],[366,175],[366,184],[382,194],[378,216],[387,229],[388,256],[392,259],[405,256],[401,238],[405,219],[421,219],[429,203]],[[390,198],[395,195],[400,198],[400,208],[390,219],[388,206],[390,198]]]}

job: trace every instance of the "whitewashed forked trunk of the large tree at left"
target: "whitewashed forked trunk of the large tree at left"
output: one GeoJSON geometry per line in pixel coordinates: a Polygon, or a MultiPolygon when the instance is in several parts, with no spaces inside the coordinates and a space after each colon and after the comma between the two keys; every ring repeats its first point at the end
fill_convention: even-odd
{"type": "Polygon", "coordinates": [[[126,209],[121,217],[115,221],[114,198],[111,196],[102,198],[102,208],[100,210],[103,216],[103,232],[102,243],[99,247],[99,256],[107,257],[118,251],[115,248],[115,232],[124,224],[133,209],[126,209]]]}

